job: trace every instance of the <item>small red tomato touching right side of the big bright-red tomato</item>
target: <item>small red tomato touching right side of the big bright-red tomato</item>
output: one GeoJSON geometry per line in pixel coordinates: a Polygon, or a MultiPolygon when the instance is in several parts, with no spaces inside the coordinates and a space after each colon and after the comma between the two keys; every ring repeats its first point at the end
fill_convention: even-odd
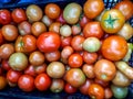
{"type": "Polygon", "coordinates": [[[66,36],[66,37],[61,36],[61,47],[70,46],[71,41],[72,41],[72,36],[66,36]]]}

